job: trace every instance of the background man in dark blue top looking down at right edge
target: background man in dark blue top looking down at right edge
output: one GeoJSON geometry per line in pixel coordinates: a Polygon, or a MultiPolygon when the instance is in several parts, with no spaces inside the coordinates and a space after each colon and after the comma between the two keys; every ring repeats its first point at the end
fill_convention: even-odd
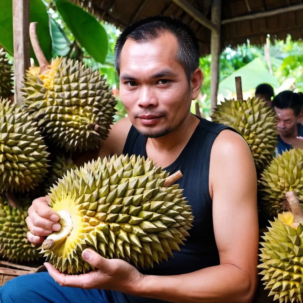
{"type": "Polygon", "coordinates": [[[278,154],[291,148],[303,148],[302,101],[297,93],[280,92],[272,101],[278,116],[278,154]]]}

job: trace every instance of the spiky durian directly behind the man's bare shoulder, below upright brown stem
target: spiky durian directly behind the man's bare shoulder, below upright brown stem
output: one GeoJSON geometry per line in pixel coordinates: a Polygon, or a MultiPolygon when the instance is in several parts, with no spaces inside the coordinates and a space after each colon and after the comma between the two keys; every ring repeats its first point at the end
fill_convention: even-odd
{"type": "Polygon", "coordinates": [[[214,122],[238,131],[247,141],[257,171],[262,171],[275,155],[278,144],[277,118],[273,109],[258,98],[226,100],[211,115],[214,122]]]}

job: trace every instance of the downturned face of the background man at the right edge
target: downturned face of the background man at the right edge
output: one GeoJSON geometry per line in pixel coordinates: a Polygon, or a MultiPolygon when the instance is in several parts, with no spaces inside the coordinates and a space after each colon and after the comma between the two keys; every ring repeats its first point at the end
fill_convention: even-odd
{"type": "Polygon", "coordinates": [[[275,107],[275,112],[278,115],[277,128],[279,134],[284,137],[293,135],[301,114],[296,117],[292,108],[280,109],[275,107]]]}

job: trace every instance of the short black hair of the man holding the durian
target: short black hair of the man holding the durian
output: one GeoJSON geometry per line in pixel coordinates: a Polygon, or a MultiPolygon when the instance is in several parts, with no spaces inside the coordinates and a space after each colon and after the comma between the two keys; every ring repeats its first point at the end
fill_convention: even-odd
{"type": "Polygon", "coordinates": [[[129,25],[120,34],[115,45],[115,68],[120,75],[120,55],[125,41],[147,42],[168,32],[174,35],[179,44],[177,60],[184,67],[188,82],[191,75],[199,67],[199,44],[195,33],[185,22],[172,16],[151,16],[129,25]]]}

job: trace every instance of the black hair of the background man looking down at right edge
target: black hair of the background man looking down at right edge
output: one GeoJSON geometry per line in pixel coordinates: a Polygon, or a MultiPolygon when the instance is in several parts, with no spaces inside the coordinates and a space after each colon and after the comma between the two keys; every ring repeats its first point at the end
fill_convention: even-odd
{"type": "Polygon", "coordinates": [[[291,108],[294,111],[296,117],[301,112],[303,101],[300,95],[292,91],[280,92],[272,100],[272,106],[280,109],[291,108]]]}

